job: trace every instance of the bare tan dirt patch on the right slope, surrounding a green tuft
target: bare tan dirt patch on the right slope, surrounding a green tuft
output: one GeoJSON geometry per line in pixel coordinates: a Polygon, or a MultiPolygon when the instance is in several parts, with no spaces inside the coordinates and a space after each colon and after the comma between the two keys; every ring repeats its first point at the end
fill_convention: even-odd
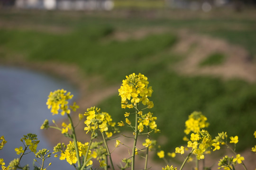
{"type": "Polygon", "coordinates": [[[224,79],[239,78],[248,82],[256,81],[256,62],[241,46],[188,31],[181,31],[179,38],[174,51],[184,55],[185,58],[174,67],[177,73],[191,76],[218,76],[224,79]],[[224,63],[218,66],[199,66],[203,59],[215,52],[223,53],[226,56],[224,63]]]}

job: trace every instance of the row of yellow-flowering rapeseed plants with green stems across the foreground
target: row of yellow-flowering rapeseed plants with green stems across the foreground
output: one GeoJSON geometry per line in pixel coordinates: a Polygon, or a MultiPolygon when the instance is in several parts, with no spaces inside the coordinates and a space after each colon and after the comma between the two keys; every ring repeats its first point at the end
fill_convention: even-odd
{"type": "MultiPolygon", "coordinates": [[[[116,140],[114,150],[120,145],[124,145],[128,147],[128,151],[131,153],[129,158],[124,158],[122,160],[125,164],[121,164],[119,168],[121,170],[126,170],[128,168],[135,170],[135,157],[141,156],[145,159],[144,170],[148,170],[148,154],[156,145],[156,141],[151,139],[151,134],[160,132],[156,124],[157,117],[153,116],[154,114],[148,111],[154,107],[154,103],[150,101],[153,89],[148,85],[149,82],[147,77],[143,74],[139,73],[136,75],[133,73],[126,76],[126,79],[123,80],[118,91],[119,96],[121,97],[121,108],[128,109],[129,111],[124,113],[124,119],[120,120],[118,123],[112,120],[109,113],[103,112],[100,108],[95,106],[88,108],[84,114],[78,114],[79,120],[83,120],[84,122],[85,133],[89,133],[91,136],[90,141],[85,143],[77,140],[75,131],[76,126],[74,126],[72,117],[70,116],[71,112],[75,112],[79,108],[75,102],[73,102],[72,105],[69,105],[69,100],[73,98],[73,95],[63,89],[50,92],[46,102],[48,109],[51,109],[53,115],[60,113],[62,116],[66,116],[69,122],[62,122],[61,127],[58,127],[55,120],[52,120],[55,126],[50,126],[49,120],[46,119],[42,124],[41,129],[55,128],[71,140],[68,144],[57,144],[53,148],[52,153],[47,149],[42,149],[37,152],[37,145],[39,144],[37,135],[24,135],[24,137],[20,139],[23,146],[15,148],[15,152],[19,155],[19,158],[11,161],[7,167],[5,166],[4,160],[0,158],[1,169],[28,170],[28,165],[21,166],[20,161],[24,155],[34,153],[36,157],[34,162],[38,162],[37,160],[42,161],[42,163],[38,163],[40,165],[39,167],[34,165],[34,170],[46,170],[51,163],[48,166],[45,166],[44,162],[46,158],[51,156],[51,154],[54,154],[54,157],[57,157],[60,160],[67,161],[76,170],[92,170],[95,159],[99,161],[99,167],[96,168],[97,170],[100,168],[104,168],[105,170],[115,170],[116,167],[111,157],[113,151],[110,152],[108,142],[116,138],[114,134],[119,134],[119,128],[127,126],[132,129],[132,134],[125,137],[133,139],[133,145],[128,146],[124,142],[118,139],[116,140]],[[137,141],[139,140],[139,136],[142,135],[146,136],[146,139],[145,142],[142,143],[143,147],[141,148],[137,146],[137,141]]],[[[219,161],[219,169],[235,170],[237,164],[242,164],[244,169],[247,170],[243,162],[245,158],[236,153],[238,136],[231,136],[228,138],[227,132],[222,132],[212,139],[210,133],[204,129],[209,125],[207,118],[201,112],[192,112],[185,122],[185,136],[183,137],[183,140],[187,142],[187,145],[176,147],[175,152],[167,153],[167,155],[174,158],[176,153],[179,153],[183,157],[183,154],[186,153],[186,151],[189,151],[186,158],[183,157],[184,160],[180,170],[183,169],[186,162],[192,161],[193,155],[196,158],[195,169],[199,170],[198,162],[205,158],[205,154],[210,153],[211,150],[216,151],[221,147],[226,147],[234,153],[235,157],[224,156],[223,159],[219,161]],[[234,147],[231,147],[229,143],[234,144],[234,147]]],[[[254,136],[256,137],[256,131],[254,136]]],[[[6,142],[4,136],[1,136],[0,150],[6,142]]],[[[157,148],[155,147],[155,149],[157,148]]],[[[252,147],[252,151],[256,152],[256,145],[252,147]]],[[[159,158],[163,158],[167,164],[162,170],[177,170],[173,165],[168,165],[169,161],[165,158],[165,152],[163,150],[156,154],[159,158]]],[[[206,167],[203,167],[203,169],[206,169],[206,167]]]]}

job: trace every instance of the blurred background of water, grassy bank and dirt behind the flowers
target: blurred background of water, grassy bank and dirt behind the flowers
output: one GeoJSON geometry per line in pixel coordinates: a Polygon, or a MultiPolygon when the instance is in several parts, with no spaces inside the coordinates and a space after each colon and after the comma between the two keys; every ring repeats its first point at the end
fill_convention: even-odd
{"type": "Polygon", "coordinates": [[[15,158],[31,131],[46,146],[66,140],[40,130],[46,118],[63,119],[46,108],[56,89],[71,91],[81,113],[95,105],[124,121],[118,88],[133,72],[153,87],[162,149],[185,144],[184,123],[197,110],[212,136],[237,135],[237,150],[249,153],[255,46],[255,0],[0,0],[0,136],[8,142],[0,157],[15,158]]]}

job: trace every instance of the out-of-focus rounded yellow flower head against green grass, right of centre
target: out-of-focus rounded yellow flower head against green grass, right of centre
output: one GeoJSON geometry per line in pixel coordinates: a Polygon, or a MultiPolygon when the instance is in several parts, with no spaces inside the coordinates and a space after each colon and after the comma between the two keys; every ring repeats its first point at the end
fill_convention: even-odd
{"type": "Polygon", "coordinates": [[[186,129],[184,133],[188,135],[190,132],[197,133],[202,128],[208,127],[210,124],[206,122],[207,118],[199,111],[194,111],[189,115],[189,119],[185,122],[186,129]]]}

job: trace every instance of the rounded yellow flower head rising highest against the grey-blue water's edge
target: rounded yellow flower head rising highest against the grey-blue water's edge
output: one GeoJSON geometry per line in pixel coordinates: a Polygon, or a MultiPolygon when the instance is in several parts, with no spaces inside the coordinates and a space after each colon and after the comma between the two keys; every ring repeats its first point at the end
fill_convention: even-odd
{"type": "Polygon", "coordinates": [[[58,114],[59,110],[62,110],[61,115],[64,116],[65,113],[70,113],[71,110],[69,108],[73,111],[76,111],[76,109],[79,108],[75,102],[70,107],[68,106],[68,100],[72,98],[73,95],[70,92],[58,89],[54,92],[50,92],[46,105],[48,105],[48,109],[51,109],[53,115],[58,114]]]}

